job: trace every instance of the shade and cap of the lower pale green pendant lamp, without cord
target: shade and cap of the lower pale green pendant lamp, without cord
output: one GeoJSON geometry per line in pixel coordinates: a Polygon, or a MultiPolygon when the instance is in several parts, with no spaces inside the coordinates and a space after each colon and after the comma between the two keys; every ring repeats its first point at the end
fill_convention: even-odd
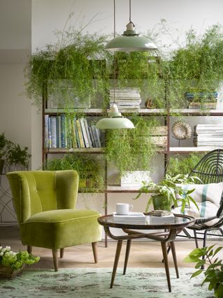
{"type": "Polygon", "coordinates": [[[108,112],[107,118],[100,119],[95,128],[99,129],[120,129],[120,128],[134,128],[134,124],[130,119],[124,118],[120,112],[116,103],[113,103],[111,109],[108,112]]]}

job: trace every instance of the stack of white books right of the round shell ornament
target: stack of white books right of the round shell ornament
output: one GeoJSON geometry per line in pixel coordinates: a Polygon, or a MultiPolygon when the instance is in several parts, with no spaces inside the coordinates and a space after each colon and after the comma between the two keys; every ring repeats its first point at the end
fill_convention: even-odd
{"type": "Polygon", "coordinates": [[[198,124],[194,126],[194,146],[222,147],[222,124],[198,124]]]}

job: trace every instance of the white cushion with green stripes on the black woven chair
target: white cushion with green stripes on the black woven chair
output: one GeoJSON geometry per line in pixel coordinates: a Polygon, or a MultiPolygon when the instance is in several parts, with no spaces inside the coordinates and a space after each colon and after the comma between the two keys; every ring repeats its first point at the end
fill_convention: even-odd
{"type": "MultiPolygon", "coordinates": [[[[180,185],[185,190],[192,190],[191,197],[197,202],[197,207],[190,202],[190,207],[185,208],[183,214],[193,216],[194,218],[209,218],[217,215],[220,208],[220,201],[223,192],[223,182],[213,184],[185,184],[180,185]]],[[[182,213],[181,206],[174,208],[175,213],[182,213]]],[[[206,225],[214,225],[219,219],[208,221],[206,225]]]]}

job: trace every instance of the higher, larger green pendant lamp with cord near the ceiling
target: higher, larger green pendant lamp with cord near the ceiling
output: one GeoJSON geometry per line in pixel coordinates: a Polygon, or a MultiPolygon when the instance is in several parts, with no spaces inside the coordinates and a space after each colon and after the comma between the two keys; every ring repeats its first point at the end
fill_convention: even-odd
{"type": "MultiPolygon", "coordinates": [[[[114,0],[115,7],[115,0],[114,0]]],[[[115,14],[115,12],[114,12],[115,14]]],[[[115,20],[115,18],[114,18],[115,20]]],[[[126,25],[126,31],[122,36],[114,37],[105,45],[105,50],[114,52],[137,52],[137,51],[151,51],[157,50],[155,43],[152,43],[148,38],[139,36],[139,33],[134,31],[134,24],[131,20],[131,0],[130,0],[130,18],[126,25]]],[[[115,27],[115,21],[114,21],[115,27]]]]}

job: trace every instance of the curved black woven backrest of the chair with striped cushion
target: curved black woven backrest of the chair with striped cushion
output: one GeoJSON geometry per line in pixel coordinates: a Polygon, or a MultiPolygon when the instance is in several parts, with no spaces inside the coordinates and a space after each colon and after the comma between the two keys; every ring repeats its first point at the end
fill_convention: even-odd
{"type": "MultiPolygon", "coordinates": [[[[203,184],[220,183],[223,181],[223,149],[215,149],[208,152],[201,161],[197,163],[190,172],[190,176],[197,176],[203,184]]],[[[201,182],[197,182],[201,184],[201,182]]],[[[222,217],[223,213],[223,193],[220,202],[220,208],[217,216],[222,217]]]]}

